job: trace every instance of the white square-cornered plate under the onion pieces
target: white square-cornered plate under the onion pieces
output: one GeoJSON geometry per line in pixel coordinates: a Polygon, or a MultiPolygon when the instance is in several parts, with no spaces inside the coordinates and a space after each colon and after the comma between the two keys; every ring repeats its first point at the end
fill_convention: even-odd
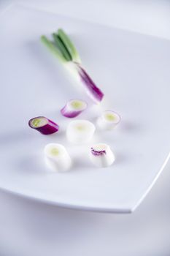
{"type": "MultiPolygon", "coordinates": [[[[0,187],[58,206],[131,212],[154,184],[169,158],[170,42],[81,20],[13,6],[1,15],[0,187]],[[87,99],[39,42],[62,27],[74,40],[84,67],[104,91],[107,108],[120,113],[112,132],[96,132],[116,160],[98,169],[86,150],[67,143],[68,120],[59,110],[70,98],[87,99]],[[43,136],[28,127],[34,116],[61,124],[43,136]],[[74,159],[69,173],[50,173],[43,148],[63,143],[74,159]]],[[[95,118],[88,110],[80,118],[95,118]]]]}

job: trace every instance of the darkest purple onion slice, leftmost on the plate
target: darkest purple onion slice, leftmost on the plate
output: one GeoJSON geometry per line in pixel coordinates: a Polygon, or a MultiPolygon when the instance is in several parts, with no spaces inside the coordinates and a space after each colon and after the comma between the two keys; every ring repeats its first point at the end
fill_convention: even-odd
{"type": "Polygon", "coordinates": [[[29,127],[36,129],[43,135],[50,135],[54,132],[58,132],[58,124],[46,118],[45,116],[38,116],[31,118],[28,122],[29,127]]]}

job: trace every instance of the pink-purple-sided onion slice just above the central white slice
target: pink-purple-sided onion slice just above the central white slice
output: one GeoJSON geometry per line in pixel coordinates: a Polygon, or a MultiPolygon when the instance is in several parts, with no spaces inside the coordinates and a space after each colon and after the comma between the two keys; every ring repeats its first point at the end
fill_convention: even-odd
{"type": "Polygon", "coordinates": [[[63,116],[73,118],[80,115],[87,108],[87,103],[80,99],[72,99],[61,109],[63,116]]]}

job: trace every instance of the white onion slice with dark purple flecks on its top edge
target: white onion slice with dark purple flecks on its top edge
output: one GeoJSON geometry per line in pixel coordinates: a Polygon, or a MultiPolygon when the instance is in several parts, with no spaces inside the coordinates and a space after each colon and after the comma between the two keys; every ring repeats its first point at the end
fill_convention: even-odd
{"type": "Polygon", "coordinates": [[[98,143],[91,146],[90,159],[97,167],[107,167],[115,161],[115,156],[107,144],[98,143]]]}

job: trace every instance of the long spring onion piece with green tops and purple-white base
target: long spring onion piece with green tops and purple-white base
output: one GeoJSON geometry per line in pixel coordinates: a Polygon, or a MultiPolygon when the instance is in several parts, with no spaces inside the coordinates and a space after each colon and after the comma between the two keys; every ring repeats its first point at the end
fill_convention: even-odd
{"type": "Polygon", "coordinates": [[[53,39],[50,40],[45,37],[45,35],[42,35],[41,40],[43,44],[61,61],[62,64],[65,65],[66,68],[72,71],[73,75],[76,75],[76,77],[79,78],[85,86],[85,90],[90,98],[92,98],[94,102],[101,102],[104,94],[82,67],[80,55],[68,35],[63,29],[58,29],[57,33],[53,33],[52,36],[53,39]]]}

